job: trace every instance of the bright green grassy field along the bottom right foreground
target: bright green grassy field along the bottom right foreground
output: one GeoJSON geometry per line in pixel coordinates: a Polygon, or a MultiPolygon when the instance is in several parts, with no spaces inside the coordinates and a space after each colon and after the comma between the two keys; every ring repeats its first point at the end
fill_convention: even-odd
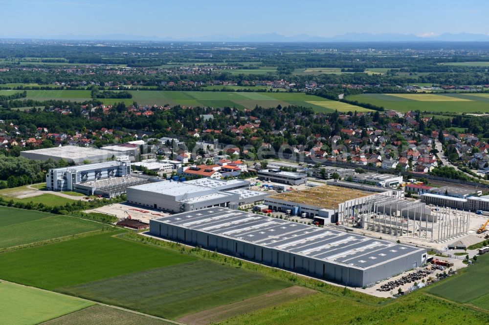
{"type": "Polygon", "coordinates": [[[267,307],[219,324],[488,324],[489,314],[413,292],[385,305],[327,293],[267,307]]]}

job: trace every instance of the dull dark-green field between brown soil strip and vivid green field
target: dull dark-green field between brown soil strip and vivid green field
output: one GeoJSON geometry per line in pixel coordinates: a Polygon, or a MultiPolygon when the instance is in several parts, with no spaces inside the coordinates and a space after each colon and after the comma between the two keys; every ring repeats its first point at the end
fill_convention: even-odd
{"type": "Polygon", "coordinates": [[[175,319],[287,286],[290,284],[257,272],[195,261],[58,290],[175,319]]]}

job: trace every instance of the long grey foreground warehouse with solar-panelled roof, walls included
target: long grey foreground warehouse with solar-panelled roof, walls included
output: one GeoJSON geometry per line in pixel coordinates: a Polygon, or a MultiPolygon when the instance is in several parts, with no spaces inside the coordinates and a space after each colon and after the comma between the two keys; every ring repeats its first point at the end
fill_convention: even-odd
{"type": "Polygon", "coordinates": [[[223,207],[151,220],[150,233],[356,287],[426,260],[422,248],[223,207]]]}

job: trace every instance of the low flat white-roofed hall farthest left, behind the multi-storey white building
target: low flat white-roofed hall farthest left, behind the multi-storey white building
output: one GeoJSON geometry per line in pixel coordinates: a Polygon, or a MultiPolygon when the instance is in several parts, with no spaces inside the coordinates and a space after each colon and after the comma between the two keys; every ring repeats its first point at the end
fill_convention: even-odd
{"type": "Polygon", "coordinates": [[[33,160],[49,160],[55,162],[64,160],[68,163],[101,163],[113,158],[124,156],[124,153],[104,149],[79,147],[76,145],[65,145],[62,147],[44,148],[36,150],[21,151],[21,157],[33,160]]]}

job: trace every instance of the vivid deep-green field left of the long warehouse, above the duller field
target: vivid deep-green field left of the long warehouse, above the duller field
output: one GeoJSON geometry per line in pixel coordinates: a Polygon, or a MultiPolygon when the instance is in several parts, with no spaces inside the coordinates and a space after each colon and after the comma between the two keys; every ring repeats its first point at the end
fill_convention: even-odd
{"type": "Polygon", "coordinates": [[[126,241],[123,230],[0,254],[0,279],[53,290],[195,260],[126,241]]]}

